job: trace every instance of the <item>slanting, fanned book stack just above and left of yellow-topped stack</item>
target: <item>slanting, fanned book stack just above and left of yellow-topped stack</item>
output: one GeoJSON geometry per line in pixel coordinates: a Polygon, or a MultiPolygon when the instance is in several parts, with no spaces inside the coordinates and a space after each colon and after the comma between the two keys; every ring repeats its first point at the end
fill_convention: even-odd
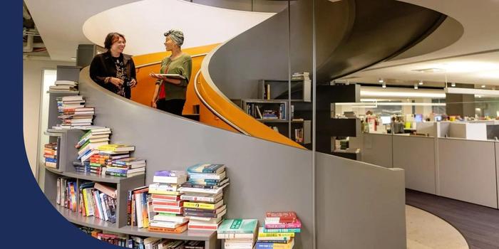
{"type": "Polygon", "coordinates": [[[93,155],[98,154],[97,147],[109,144],[110,134],[111,129],[108,127],[88,130],[75,144],[75,148],[78,149],[77,159],[82,163],[90,161],[93,155]]]}

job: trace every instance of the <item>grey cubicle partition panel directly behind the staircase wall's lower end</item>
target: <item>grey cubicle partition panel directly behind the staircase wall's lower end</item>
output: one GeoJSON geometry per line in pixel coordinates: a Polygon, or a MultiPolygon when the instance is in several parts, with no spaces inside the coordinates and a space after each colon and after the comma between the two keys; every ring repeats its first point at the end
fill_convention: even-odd
{"type": "Polygon", "coordinates": [[[406,172],[406,188],[436,194],[435,138],[393,135],[393,167],[406,172]]]}

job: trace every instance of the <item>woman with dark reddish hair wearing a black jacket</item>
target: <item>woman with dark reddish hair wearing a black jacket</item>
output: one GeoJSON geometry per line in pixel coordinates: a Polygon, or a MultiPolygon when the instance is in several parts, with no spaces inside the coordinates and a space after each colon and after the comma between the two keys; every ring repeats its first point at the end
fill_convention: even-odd
{"type": "Polygon", "coordinates": [[[126,40],[120,33],[108,33],[104,41],[106,53],[96,55],[90,64],[90,77],[103,88],[120,96],[130,98],[130,88],[137,85],[135,64],[130,55],[125,55],[126,40]]]}

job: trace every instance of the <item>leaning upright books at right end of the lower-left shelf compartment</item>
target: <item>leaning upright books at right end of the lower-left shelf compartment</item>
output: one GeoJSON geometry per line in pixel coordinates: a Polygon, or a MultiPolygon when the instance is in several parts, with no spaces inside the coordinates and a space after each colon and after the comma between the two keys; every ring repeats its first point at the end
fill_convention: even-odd
{"type": "Polygon", "coordinates": [[[95,216],[110,223],[116,222],[116,189],[93,181],[80,184],[78,212],[95,216]]]}

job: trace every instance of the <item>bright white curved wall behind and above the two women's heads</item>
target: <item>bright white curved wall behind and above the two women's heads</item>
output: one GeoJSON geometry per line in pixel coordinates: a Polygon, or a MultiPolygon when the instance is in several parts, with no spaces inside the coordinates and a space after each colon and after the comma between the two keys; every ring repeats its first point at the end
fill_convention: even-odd
{"type": "Polygon", "coordinates": [[[123,33],[127,40],[125,53],[138,55],[164,51],[163,33],[171,28],[182,30],[185,36],[182,47],[191,48],[227,41],[273,15],[181,0],[143,0],[88,18],[83,33],[100,46],[109,32],[123,33]]]}

